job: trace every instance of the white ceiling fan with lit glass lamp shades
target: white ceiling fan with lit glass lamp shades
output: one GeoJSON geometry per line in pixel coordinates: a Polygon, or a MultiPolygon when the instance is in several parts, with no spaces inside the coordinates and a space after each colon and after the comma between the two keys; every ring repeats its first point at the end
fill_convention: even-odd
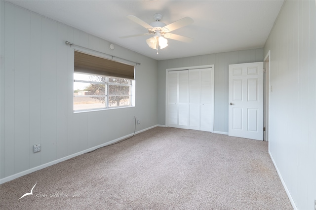
{"type": "Polygon", "coordinates": [[[142,27],[146,28],[148,30],[148,33],[146,34],[139,34],[139,35],[127,35],[127,36],[121,36],[120,38],[129,38],[129,37],[135,37],[135,36],[141,36],[141,35],[154,35],[151,38],[146,40],[146,43],[149,47],[156,49],[158,54],[158,46],[160,49],[165,48],[168,46],[168,40],[166,38],[183,41],[183,42],[191,42],[193,38],[182,36],[182,35],[176,35],[171,34],[170,32],[182,28],[184,26],[187,26],[191,23],[193,23],[193,19],[190,17],[185,17],[180,20],[177,20],[169,25],[166,25],[161,22],[162,15],[156,13],[154,15],[155,21],[151,24],[146,23],[145,21],[139,19],[138,17],[134,15],[127,15],[127,18],[134,21],[135,23],[141,25],[142,27]]]}

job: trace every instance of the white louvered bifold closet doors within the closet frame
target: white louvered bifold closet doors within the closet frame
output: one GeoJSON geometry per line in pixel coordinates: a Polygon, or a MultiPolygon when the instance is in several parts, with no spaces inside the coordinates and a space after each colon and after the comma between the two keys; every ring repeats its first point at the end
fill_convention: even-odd
{"type": "Polygon", "coordinates": [[[168,126],[212,131],[212,68],[168,72],[168,126]]]}

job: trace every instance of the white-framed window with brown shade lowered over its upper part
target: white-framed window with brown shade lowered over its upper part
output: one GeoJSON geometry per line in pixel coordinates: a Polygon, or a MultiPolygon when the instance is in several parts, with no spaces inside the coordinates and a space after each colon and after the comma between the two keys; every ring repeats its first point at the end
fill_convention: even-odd
{"type": "Polygon", "coordinates": [[[75,51],[74,112],[134,106],[135,80],[131,78],[134,78],[135,67],[133,72],[130,67],[75,51]],[[107,66],[109,62],[112,63],[107,66]],[[129,71],[121,70],[124,67],[129,71]],[[126,72],[129,75],[125,75],[126,72]]]}

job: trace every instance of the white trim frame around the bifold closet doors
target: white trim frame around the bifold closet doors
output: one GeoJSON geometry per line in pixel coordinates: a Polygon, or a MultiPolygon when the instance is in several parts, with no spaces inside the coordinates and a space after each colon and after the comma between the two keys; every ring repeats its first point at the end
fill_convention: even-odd
{"type": "Polygon", "coordinates": [[[212,119],[211,121],[212,123],[212,128],[211,128],[211,132],[214,132],[214,64],[210,64],[210,65],[201,65],[201,66],[192,66],[192,67],[179,67],[179,68],[171,68],[171,69],[166,69],[166,87],[165,87],[165,127],[168,127],[168,104],[169,104],[169,88],[168,88],[168,83],[169,83],[169,79],[168,79],[168,73],[169,71],[174,71],[174,70],[193,70],[193,69],[206,69],[206,68],[212,68],[212,84],[213,84],[213,97],[212,97],[212,119]]]}

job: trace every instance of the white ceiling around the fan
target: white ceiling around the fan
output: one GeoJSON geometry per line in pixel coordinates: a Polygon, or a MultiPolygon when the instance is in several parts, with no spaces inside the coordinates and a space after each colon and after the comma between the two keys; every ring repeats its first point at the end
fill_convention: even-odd
{"type": "MultiPolygon", "coordinates": [[[[12,4],[75,27],[156,60],[255,49],[264,46],[283,0],[7,0],[12,4]],[[163,15],[170,24],[191,17],[193,24],[173,34],[194,38],[185,43],[169,39],[166,48],[151,49],[147,33],[126,18],[135,15],[147,23],[163,15]]],[[[75,43],[76,44],[76,43],[75,43]]]]}

